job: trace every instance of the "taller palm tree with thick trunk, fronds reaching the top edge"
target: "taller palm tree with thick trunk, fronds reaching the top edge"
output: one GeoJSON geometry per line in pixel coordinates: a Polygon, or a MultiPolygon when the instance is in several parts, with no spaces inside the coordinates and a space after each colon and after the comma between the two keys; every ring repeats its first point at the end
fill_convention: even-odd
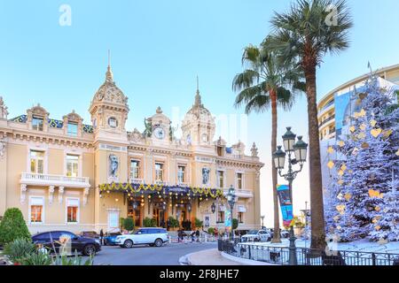
{"type": "Polygon", "coordinates": [[[301,65],[306,80],[309,118],[311,248],[325,248],[320,144],[318,140],[316,69],[328,53],[348,48],[353,22],[345,0],[297,0],[287,13],[276,12],[268,47],[285,62],[301,65]]]}

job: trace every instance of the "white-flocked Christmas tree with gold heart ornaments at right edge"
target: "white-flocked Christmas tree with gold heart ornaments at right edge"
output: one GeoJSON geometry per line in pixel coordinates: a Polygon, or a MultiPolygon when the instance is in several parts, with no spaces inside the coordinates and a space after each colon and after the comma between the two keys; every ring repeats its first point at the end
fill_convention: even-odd
{"type": "Polygon", "coordinates": [[[325,198],[327,232],[341,241],[399,241],[399,109],[374,77],[356,96],[361,110],[328,149],[335,159],[327,164],[334,171],[325,198]]]}

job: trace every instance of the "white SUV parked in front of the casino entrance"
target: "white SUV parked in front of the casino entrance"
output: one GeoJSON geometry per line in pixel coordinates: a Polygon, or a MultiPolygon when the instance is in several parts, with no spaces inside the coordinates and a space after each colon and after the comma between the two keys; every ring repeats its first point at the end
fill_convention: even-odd
{"type": "Polygon", "coordinates": [[[121,248],[130,249],[134,245],[161,247],[168,241],[168,232],[163,228],[140,228],[136,233],[117,236],[115,243],[121,248]]]}

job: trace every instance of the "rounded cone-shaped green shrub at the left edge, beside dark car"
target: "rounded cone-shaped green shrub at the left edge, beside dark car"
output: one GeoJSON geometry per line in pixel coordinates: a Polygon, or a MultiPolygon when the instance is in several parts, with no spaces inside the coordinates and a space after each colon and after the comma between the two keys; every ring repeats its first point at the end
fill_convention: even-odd
{"type": "Polygon", "coordinates": [[[0,223],[0,245],[5,245],[16,239],[30,240],[22,212],[17,208],[5,210],[4,218],[0,223]]]}

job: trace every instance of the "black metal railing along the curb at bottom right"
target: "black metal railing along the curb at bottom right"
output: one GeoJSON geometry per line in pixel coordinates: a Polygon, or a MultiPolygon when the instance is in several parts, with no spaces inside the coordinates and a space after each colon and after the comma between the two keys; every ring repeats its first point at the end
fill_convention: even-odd
{"type": "MultiPolygon", "coordinates": [[[[269,264],[288,265],[289,248],[218,241],[219,251],[269,264]]],[[[399,265],[399,254],[362,251],[330,251],[296,248],[298,265],[399,265]]]]}

